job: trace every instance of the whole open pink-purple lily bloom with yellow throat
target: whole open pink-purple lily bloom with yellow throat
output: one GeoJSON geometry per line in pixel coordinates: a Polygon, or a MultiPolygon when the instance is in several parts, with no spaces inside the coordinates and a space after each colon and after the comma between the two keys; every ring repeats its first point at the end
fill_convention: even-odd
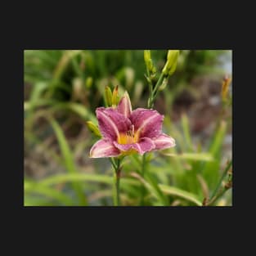
{"type": "Polygon", "coordinates": [[[103,138],[92,146],[92,158],[143,155],[175,146],[173,137],[162,133],[164,115],[142,108],[132,111],[128,92],[116,108],[98,107],[96,114],[103,138]]]}

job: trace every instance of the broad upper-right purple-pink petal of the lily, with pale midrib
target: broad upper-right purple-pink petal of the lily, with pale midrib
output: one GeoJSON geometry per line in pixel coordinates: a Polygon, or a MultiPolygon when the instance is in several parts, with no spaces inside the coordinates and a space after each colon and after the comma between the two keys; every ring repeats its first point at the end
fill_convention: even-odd
{"type": "Polygon", "coordinates": [[[164,115],[160,115],[156,110],[138,108],[132,111],[129,119],[140,137],[153,138],[161,133],[164,115]]]}

